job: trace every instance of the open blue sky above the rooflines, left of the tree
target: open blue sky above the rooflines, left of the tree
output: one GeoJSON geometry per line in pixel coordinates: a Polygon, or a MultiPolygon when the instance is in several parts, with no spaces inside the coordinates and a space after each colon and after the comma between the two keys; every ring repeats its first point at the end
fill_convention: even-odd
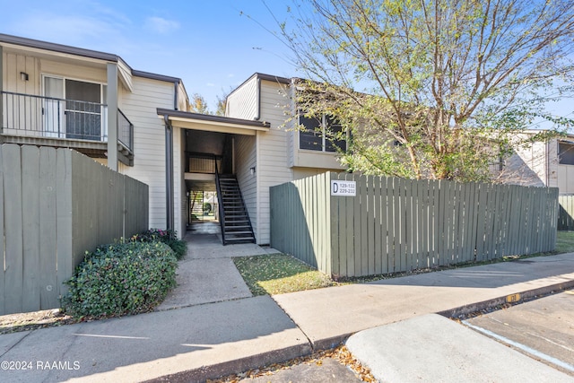
{"type": "MultiPolygon", "coordinates": [[[[289,0],[266,4],[281,19],[289,0]]],[[[116,54],[134,69],[181,78],[211,109],[255,72],[298,74],[265,30],[277,27],[261,0],[0,0],[0,10],[0,33],[116,54]]]]}

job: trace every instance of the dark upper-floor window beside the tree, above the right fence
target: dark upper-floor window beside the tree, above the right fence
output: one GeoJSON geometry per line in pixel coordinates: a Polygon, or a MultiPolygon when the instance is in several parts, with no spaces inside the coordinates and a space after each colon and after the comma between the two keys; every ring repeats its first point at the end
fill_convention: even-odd
{"type": "Polygon", "coordinates": [[[337,139],[337,135],[343,132],[343,126],[335,118],[329,116],[308,118],[300,114],[299,124],[305,126],[305,130],[299,132],[300,149],[317,152],[336,152],[337,148],[346,150],[346,140],[337,139]],[[329,137],[326,133],[334,136],[329,137]]]}

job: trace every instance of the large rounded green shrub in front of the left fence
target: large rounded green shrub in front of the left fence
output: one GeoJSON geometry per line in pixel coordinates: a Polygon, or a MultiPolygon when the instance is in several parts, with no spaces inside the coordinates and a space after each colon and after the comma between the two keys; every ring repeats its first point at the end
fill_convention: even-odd
{"type": "Polygon", "coordinates": [[[161,242],[117,243],[88,254],[62,299],[73,316],[121,316],[149,311],[176,285],[178,261],[161,242]]]}

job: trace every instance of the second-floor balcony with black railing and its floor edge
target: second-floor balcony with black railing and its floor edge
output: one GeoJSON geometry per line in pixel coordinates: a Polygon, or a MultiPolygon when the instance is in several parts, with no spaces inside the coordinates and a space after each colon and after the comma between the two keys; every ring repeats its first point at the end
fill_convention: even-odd
{"type": "MultiPolygon", "coordinates": [[[[94,158],[108,151],[108,106],[1,91],[0,142],[69,147],[94,158]]],[[[118,160],[133,164],[134,125],[118,109],[118,160]]]]}

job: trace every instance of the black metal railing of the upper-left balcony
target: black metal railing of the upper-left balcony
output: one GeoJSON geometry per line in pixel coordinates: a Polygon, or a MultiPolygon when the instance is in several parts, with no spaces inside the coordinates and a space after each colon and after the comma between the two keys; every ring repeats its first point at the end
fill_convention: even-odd
{"type": "MultiPolygon", "coordinates": [[[[97,102],[63,100],[1,91],[3,135],[67,140],[108,141],[108,106],[97,102]]],[[[118,113],[117,140],[133,151],[134,125],[118,113]]]]}

